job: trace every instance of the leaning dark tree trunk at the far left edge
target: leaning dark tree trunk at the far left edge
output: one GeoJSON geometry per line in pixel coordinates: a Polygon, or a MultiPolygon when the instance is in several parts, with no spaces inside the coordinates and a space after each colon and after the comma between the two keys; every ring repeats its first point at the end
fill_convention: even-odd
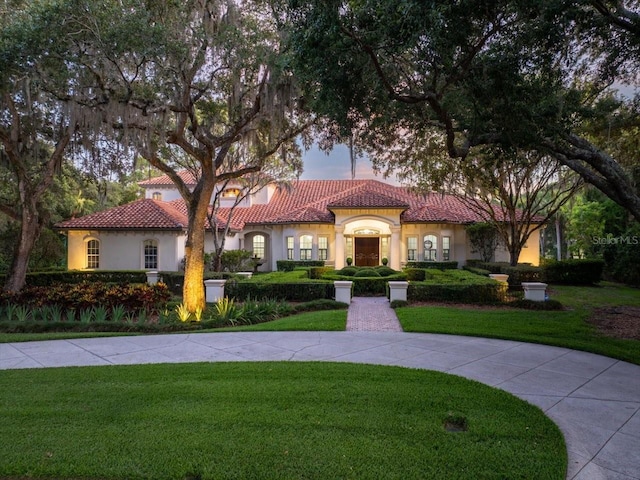
{"type": "Polygon", "coordinates": [[[27,281],[27,269],[31,251],[40,236],[40,216],[32,203],[23,203],[20,224],[20,236],[16,243],[11,268],[7,274],[4,288],[8,292],[19,292],[27,281]]]}

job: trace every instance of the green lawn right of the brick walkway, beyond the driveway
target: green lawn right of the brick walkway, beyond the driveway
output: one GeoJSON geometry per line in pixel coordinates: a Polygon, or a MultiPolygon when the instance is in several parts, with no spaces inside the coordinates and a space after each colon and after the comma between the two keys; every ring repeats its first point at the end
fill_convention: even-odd
{"type": "Polygon", "coordinates": [[[570,310],[403,307],[396,313],[406,332],[501,338],[573,348],[640,365],[640,342],[606,337],[586,320],[594,307],[640,305],[640,290],[616,284],[553,286],[551,298],[570,310]]]}

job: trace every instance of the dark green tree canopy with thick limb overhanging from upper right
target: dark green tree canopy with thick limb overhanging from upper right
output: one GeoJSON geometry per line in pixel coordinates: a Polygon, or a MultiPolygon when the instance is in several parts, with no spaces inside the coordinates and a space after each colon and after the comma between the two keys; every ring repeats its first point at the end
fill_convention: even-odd
{"type": "Polygon", "coordinates": [[[432,161],[435,129],[453,159],[487,145],[550,155],[640,219],[628,161],[586,132],[605,113],[598,105],[612,82],[638,84],[639,9],[290,0],[281,19],[306,101],[381,169],[432,161]]]}

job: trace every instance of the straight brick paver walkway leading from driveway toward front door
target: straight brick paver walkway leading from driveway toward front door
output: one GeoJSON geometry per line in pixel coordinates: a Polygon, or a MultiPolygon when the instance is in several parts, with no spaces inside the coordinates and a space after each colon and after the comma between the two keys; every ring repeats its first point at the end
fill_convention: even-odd
{"type": "Polygon", "coordinates": [[[353,297],[347,332],[402,332],[402,327],[386,297],[353,297]]]}

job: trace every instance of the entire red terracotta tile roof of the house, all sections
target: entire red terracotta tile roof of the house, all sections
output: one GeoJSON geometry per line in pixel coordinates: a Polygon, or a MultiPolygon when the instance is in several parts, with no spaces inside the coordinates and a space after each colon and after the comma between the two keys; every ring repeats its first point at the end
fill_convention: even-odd
{"type": "MultiPolygon", "coordinates": [[[[145,186],[158,185],[143,183],[145,186]]],[[[277,190],[268,204],[237,207],[231,219],[231,229],[240,231],[245,225],[333,223],[335,216],[332,208],[402,209],[402,223],[464,224],[482,220],[480,215],[451,195],[419,195],[405,187],[377,180],[299,180],[293,184],[291,191],[277,190]]],[[[218,211],[218,227],[224,227],[228,213],[228,208],[218,211]]],[[[186,225],[187,209],[184,201],[138,200],[129,205],[68,220],[57,227],[62,230],[124,230],[179,229],[186,225]]],[[[210,226],[207,225],[207,228],[210,226]]]]}

